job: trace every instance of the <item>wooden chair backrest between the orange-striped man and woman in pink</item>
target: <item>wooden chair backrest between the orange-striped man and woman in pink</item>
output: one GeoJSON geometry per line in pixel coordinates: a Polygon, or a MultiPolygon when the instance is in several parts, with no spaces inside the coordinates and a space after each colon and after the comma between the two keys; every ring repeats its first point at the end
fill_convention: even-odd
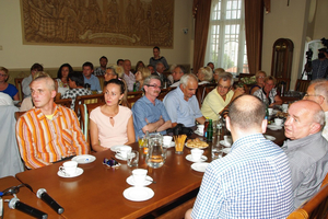
{"type": "MultiPolygon", "coordinates": [[[[92,110],[103,105],[104,103],[91,103],[91,104],[81,104],[80,107],[80,114],[81,114],[81,123],[80,126],[83,130],[83,135],[85,137],[85,141],[91,147],[91,138],[90,138],[90,123],[89,123],[89,116],[92,110]]],[[[91,147],[92,149],[92,147],[91,147]]]]}

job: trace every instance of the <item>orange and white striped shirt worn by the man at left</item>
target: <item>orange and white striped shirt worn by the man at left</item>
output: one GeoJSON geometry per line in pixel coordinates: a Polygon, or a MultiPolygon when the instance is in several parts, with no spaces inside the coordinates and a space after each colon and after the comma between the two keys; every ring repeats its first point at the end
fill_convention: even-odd
{"type": "Polygon", "coordinates": [[[70,155],[89,153],[75,113],[54,103],[52,119],[32,108],[16,123],[21,157],[31,169],[49,165],[70,155]]]}

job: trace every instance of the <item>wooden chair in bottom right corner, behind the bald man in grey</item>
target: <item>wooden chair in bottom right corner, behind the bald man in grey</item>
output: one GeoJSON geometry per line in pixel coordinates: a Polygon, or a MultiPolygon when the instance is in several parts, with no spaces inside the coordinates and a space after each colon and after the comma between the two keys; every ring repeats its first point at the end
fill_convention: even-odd
{"type": "Polygon", "coordinates": [[[328,174],[321,188],[307,203],[294,210],[288,219],[328,218],[328,174]]]}

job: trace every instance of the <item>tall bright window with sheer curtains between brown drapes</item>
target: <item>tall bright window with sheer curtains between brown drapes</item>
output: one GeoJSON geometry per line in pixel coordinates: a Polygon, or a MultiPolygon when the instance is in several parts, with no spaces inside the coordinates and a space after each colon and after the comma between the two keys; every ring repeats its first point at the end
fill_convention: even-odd
{"type": "Polygon", "coordinates": [[[248,73],[243,0],[212,0],[206,64],[248,73]]]}

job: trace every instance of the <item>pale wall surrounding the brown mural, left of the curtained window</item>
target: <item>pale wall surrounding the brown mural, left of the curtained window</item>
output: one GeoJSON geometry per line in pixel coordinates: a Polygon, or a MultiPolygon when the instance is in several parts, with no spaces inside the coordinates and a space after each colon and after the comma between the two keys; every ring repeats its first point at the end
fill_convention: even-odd
{"type": "MultiPolygon", "coordinates": [[[[190,65],[191,5],[192,0],[175,0],[174,47],[161,49],[168,64],[190,65]],[[189,28],[188,34],[183,33],[185,27],[189,28]]],[[[43,64],[45,68],[58,68],[63,62],[80,67],[84,61],[98,66],[103,55],[109,64],[128,58],[134,66],[138,60],[148,64],[152,56],[152,48],[23,45],[20,0],[0,0],[0,66],[9,69],[26,69],[34,62],[43,64]]]]}

